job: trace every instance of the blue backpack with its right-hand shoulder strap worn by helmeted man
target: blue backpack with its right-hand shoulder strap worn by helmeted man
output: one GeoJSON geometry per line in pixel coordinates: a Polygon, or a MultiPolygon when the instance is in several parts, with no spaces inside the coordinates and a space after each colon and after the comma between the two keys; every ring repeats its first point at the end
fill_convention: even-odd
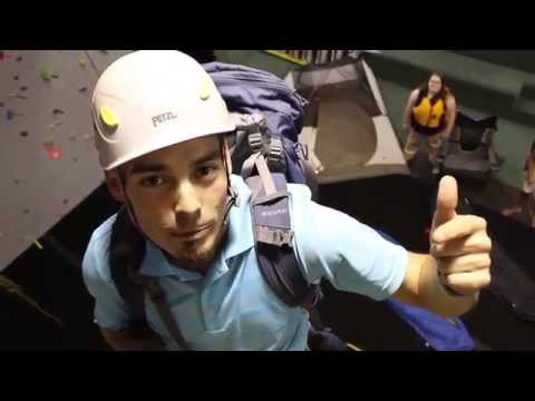
{"type": "Polygon", "coordinates": [[[311,319],[311,350],[348,350],[321,323],[315,310],[322,293],[303,277],[292,247],[288,183],[308,185],[318,196],[315,173],[298,141],[308,101],[276,76],[250,67],[205,65],[228,110],[236,117],[232,159],[252,192],[255,248],[263,277],[291,307],[305,309],[311,319]]]}

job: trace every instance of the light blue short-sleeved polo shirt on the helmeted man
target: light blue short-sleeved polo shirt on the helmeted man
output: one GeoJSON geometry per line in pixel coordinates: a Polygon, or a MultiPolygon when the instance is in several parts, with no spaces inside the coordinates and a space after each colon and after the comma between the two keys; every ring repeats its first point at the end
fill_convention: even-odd
{"type": "MultiPolygon", "coordinates": [[[[140,272],[159,278],[193,350],[305,350],[308,313],[288,307],[264,281],[254,250],[251,192],[240,176],[231,179],[239,205],[230,212],[227,242],[207,274],[169,264],[150,242],[140,272]]],[[[408,264],[405,248],[354,218],[312,202],[303,185],[289,185],[289,192],[294,246],[309,282],[325,278],[339,290],[378,301],[399,288],[408,264]]],[[[91,236],[84,257],[84,281],[95,297],[96,323],[123,330],[132,321],[130,311],[114,285],[108,265],[115,217],[91,236]]],[[[167,349],[178,349],[149,300],[146,314],[167,349]]]]}

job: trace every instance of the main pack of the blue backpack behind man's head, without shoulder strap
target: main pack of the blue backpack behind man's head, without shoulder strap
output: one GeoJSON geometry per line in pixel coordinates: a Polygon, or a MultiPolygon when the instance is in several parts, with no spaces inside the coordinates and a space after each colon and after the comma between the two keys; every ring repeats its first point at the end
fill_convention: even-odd
{"type": "Polygon", "coordinates": [[[315,196],[318,184],[308,151],[298,141],[308,100],[266,71],[222,62],[204,67],[236,117],[239,128],[231,144],[234,173],[243,173],[245,159],[261,150],[271,173],[308,185],[315,196]]]}

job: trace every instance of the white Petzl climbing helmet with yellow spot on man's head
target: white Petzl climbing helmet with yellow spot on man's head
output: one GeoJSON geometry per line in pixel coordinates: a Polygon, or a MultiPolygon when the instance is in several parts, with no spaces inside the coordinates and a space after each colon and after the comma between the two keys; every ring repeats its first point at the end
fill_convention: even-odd
{"type": "Polygon", "coordinates": [[[174,144],[235,129],[210,75],[175,50],[140,50],[116,60],[98,79],[91,111],[105,170],[174,144]]]}

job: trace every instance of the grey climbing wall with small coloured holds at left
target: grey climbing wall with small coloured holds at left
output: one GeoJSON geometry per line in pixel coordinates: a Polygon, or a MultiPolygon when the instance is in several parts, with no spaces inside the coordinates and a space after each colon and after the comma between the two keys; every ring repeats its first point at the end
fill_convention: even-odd
{"type": "Polygon", "coordinates": [[[128,50],[0,50],[0,271],[103,182],[89,97],[128,50]]]}

